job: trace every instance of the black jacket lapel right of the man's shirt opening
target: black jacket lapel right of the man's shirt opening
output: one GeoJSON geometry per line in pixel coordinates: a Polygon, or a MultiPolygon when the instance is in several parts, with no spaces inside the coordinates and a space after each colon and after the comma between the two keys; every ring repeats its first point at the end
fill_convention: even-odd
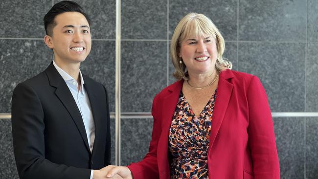
{"type": "MultiPolygon", "coordinates": [[[[103,125],[101,124],[101,115],[100,115],[100,112],[99,112],[99,106],[98,104],[101,104],[99,101],[98,101],[98,96],[95,95],[94,93],[94,88],[93,88],[93,85],[90,83],[90,81],[83,75],[83,78],[84,78],[84,87],[85,87],[85,90],[86,92],[88,93],[89,95],[89,98],[90,98],[90,103],[91,103],[91,112],[93,114],[93,118],[94,118],[94,124],[95,124],[95,139],[94,139],[94,146],[98,146],[98,134],[99,134],[99,131],[100,130],[107,130],[106,128],[103,128],[103,129],[99,129],[99,127],[102,127],[103,125]]],[[[105,132],[106,134],[106,132],[105,132]]],[[[93,150],[92,150],[92,153],[94,152],[94,147],[93,147],[93,150]]]]}

